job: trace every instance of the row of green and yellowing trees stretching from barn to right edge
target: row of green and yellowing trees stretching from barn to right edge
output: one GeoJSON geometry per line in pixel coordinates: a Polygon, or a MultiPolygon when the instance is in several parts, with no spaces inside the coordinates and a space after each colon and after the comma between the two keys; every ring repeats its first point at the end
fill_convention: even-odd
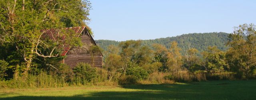
{"type": "Polygon", "coordinates": [[[244,24],[235,27],[228,36],[226,51],[217,46],[209,46],[199,52],[190,46],[183,54],[176,41],[169,46],[143,45],[142,40],[128,40],[117,46],[108,46],[105,67],[110,71],[110,80],[118,73],[131,75],[135,79],[147,79],[154,72],[170,73],[169,78],[182,74],[205,74],[208,79],[222,77],[222,72],[230,74],[227,79],[252,79],[256,76],[256,31],[255,25],[244,24]],[[169,48],[168,48],[169,47],[169,48]],[[213,76],[215,74],[215,76],[213,76]]]}

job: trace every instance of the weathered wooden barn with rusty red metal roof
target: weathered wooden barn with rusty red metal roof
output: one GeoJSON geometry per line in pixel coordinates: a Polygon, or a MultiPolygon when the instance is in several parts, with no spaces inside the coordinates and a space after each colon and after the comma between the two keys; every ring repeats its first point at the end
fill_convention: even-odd
{"type": "MultiPolygon", "coordinates": [[[[69,27],[65,28],[65,30],[72,30],[74,31],[77,37],[80,37],[84,46],[90,47],[90,45],[96,45],[96,42],[86,29],[86,27],[69,27]]],[[[57,31],[55,29],[48,29],[46,30],[46,35],[52,35],[56,33],[57,31]]],[[[65,41],[68,42],[68,41],[65,41]]],[[[66,56],[66,58],[63,59],[61,63],[66,63],[71,68],[74,68],[77,63],[84,62],[89,63],[93,65],[94,67],[102,67],[102,53],[98,53],[94,56],[94,62],[92,60],[92,56],[90,53],[86,50],[82,50],[80,48],[68,48],[64,47],[64,50],[62,50],[62,53],[60,56],[66,56]]]]}

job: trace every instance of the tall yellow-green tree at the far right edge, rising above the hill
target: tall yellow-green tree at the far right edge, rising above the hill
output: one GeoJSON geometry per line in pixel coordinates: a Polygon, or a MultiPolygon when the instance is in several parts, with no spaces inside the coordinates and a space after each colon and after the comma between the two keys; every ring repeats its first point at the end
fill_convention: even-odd
{"type": "Polygon", "coordinates": [[[227,60],[238,78],[256,75],[256,27],[239,25],[229,36],[227,60]]]}

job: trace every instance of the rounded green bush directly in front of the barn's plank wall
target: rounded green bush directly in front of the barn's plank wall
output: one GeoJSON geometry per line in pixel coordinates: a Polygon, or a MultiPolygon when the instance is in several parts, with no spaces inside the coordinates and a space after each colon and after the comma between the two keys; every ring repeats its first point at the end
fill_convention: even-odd
{"type": "Polygon", "coordinates": [[[72,81],[77,85],[85,85],[97,77],[96,68],[88,63],[78,63],[76,67],[74,67],[73,72],[74,79],[72,81]]]}

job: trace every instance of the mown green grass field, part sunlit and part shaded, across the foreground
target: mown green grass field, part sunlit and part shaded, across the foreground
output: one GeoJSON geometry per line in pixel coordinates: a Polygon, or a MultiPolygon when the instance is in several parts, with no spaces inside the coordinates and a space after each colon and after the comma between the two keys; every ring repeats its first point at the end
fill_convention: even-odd
{"type": "Polygon", "coordinates": [[[0,100],[256,100],[256,80],[0,89],[0,100]]]}

